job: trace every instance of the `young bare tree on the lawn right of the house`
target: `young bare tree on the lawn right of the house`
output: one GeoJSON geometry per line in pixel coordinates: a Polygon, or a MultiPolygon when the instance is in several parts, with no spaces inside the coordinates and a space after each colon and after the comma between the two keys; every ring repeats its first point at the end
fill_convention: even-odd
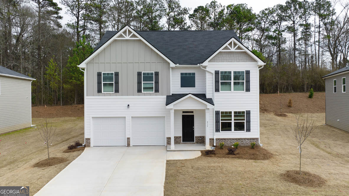
{"type": "Polygon", "coordinates": [[[306,138],[309,137],[309,135],[316,129],[318,126],[315,126],[315,121],[308,118],[309,116],[306,116],[306,119],[300,120],[300,114],[296,115],[296,121],[297,121],[297,128],[294,129],[291,127],[292,132],[296,138],[298,148],[299,149],[299,175],[302,174],[300,170],[301,166],[301,157],[302,157],[302,144],[306,140],[306,138]]]}

